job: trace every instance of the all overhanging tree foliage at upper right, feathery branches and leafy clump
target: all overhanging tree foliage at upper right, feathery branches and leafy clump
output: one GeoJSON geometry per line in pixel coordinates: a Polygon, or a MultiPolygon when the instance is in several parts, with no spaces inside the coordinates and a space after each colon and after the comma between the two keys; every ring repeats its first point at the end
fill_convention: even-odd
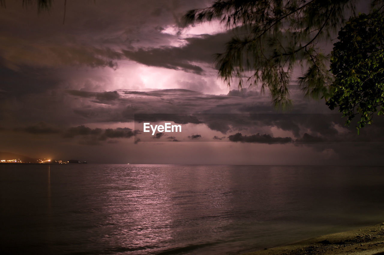
{"type": "Polygon", "coordinates": [[[261,85],[276,107],[286,107],[291,104],[288,85],[299,65],[305,67],[298,83],[306,96],[326,98],[329,108],[339,107],[348,117],[348,125],[362,114],[363,127],[384,98],[383,3],[372,1],[376,9],[358,16],[354,0],[218,0],[188,11],[184,20],[186,25],[219,20],[236,28],[237,35],[216,57],[218,75],[228,86],[234,78],[240,88],[261,85]],[[329,56],[319,42],[330,42],[344,25],[329,70],[329,56]]]}

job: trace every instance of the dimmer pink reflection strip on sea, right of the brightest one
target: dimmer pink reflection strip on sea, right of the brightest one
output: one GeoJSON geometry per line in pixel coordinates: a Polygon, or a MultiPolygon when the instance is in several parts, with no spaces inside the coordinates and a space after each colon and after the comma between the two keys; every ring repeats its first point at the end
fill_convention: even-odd
{"type": "Polygon", "coordinates": [[[226,195],[231,185],[229,173],[217,166],[211,166],[212,171],[198,165],[193,171],[188,170],[190,166],[175,168],[167,171],[172,189],[171,214],[177,229],[174,237],[182,236],[189,246],[207,245],[209,235],[215,242],[223,241],[227,235],[223,230],[232,222],[227,214],[233,208],[226,195]]]}

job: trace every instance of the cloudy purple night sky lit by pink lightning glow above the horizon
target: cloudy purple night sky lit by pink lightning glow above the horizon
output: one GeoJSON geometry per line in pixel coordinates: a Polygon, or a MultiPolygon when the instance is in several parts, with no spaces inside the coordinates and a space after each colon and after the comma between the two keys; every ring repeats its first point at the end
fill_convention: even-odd
{"type": "MultiPolygon", "coordinates": [[[[67,1],[0,8],[0,151],[89,163],[382,165],[383,120],[360,135],[324,100],[277,111],[228,87],[214,54],[235,32],[182,27],[210,1],[67,1]],[[136,122],[135,122],[136,120],[136,122]],[[143,132],[143,123],[182,132],[143,132]]],[[[328,46],[329,48],[329,46],[328,46]]],[[[300,70],[297,70],[300,75],[300,70]]]]}

